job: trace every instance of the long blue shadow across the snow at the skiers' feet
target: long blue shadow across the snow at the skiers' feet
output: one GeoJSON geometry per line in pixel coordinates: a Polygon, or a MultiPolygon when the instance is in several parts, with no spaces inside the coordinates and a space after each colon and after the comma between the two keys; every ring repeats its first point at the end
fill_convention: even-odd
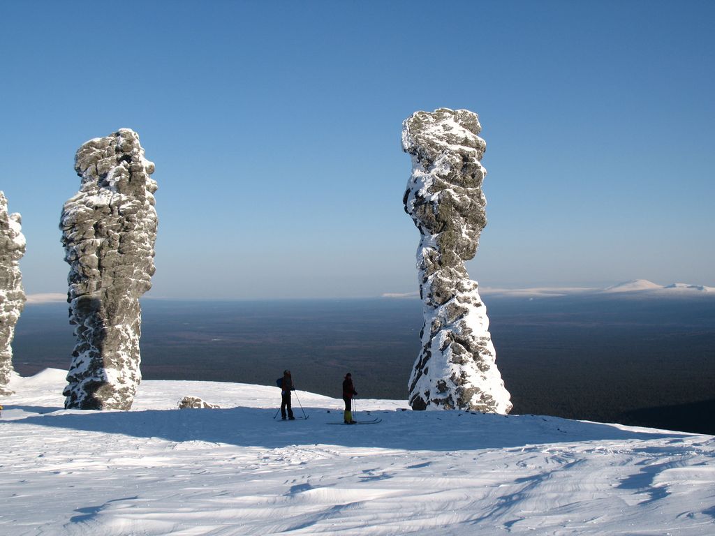
{"type": "MultiPolygon", "coordinates": [[[[103,432],[129,437],[158,437],[172,442],[204,441],[243,447],[344,445],[402,450],[478,450],[585,441],[656,440],[683,437],[681,432],[621,430],[612,425],[539,415],[472,414],[458,411],[394,412],[378,410],[370,426],[328,426],[342,422],[342,412],[305,408],[308,420],[274,420],[275,410],[234,407],[225,410],[145,410],[37,415],[7,421],[71,432],[103,432]]],[[[358,418],[368,412],[360,412],[358,418]]]]}

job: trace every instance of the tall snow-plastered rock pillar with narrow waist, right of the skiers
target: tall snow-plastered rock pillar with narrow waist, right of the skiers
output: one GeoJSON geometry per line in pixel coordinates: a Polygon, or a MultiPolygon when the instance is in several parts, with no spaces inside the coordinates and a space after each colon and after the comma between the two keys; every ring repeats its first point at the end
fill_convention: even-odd
{"type": "Polygon", "coordinates": [[[425,323],[410,377],[413,410],[508,413],[510,395],[495,364],[489,319],[464,262],[486,225],[480,164],[486,149],[477,114],[440,108],[403,122],[413,171],[403,202],[420,230],[417,267],[425,323]]]}

